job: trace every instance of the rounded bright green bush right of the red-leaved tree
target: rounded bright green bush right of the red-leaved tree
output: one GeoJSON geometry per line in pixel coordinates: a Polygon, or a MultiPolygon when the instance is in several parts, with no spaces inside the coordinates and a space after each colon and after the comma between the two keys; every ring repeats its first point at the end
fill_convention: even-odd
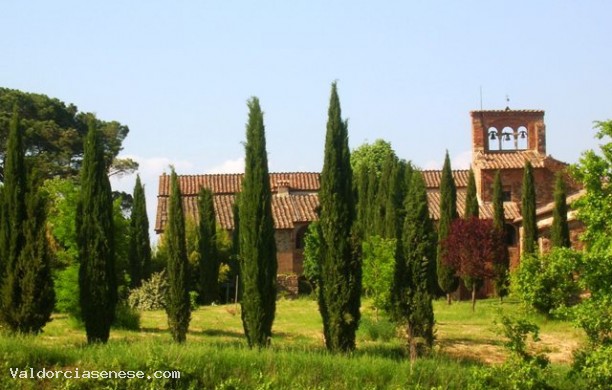
{"type": "Polygon", "coordinates": [[[546,315],[578,303],[582,291],[576,280],[580,252],[553,248],[549,253],[524,256],[513,276],[513,289],[528,306],[546,315]]]}

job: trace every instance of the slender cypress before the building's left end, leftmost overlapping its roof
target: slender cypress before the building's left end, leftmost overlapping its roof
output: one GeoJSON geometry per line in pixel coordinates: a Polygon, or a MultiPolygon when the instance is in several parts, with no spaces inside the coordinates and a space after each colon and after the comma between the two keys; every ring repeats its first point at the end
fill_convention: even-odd
{"type": "Polygon", "coordinates": [[[168,302],[166,314],[172,339],[177,343],[185,342],[191,307],[189,301],[189,275],[187,247],[185,241],[185,216],[178,177],[174,168],[170,175],[170,199],[168,203],[168,222],[164,233],[168,256],[168,302]]]}

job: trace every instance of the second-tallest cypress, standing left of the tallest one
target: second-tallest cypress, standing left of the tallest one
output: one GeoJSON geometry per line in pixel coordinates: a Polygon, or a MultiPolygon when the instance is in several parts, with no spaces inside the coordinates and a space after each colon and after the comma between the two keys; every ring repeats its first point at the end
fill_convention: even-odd
{"type": "Polygon", "coordinates": [[[266,347],[276,312],[276,242],[263,112],[248,101],[245,169],[240,193],[242,324],[250,347],[266,347]]]}

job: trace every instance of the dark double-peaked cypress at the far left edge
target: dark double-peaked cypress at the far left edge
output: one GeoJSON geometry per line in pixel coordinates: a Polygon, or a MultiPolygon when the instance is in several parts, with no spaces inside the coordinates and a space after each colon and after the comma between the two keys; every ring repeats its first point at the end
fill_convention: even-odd
{"type": "Polygon", "coordinates": [[[2,255],[7,256],[0,289],[0,321],[12,332],[39,333],[50,321],[55,302],[46,236],[46,199],[37,190],[40,183],[35,174],[30,174],[26,183],[28,175],[18,123],[15,110],[0,198],[3,218],[6,217],[1,247],[2,255]]]}

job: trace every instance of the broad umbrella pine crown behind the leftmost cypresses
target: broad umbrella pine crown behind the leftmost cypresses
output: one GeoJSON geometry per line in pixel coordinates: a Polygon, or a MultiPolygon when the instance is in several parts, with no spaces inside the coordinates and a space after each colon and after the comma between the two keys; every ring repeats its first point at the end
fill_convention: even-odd
{"type": "MultiPolygon", "coordinates": [[[[0,160],[4,161],[10,118],[14,107],[20,115],[24,134],[24,149],[32,165],[43,178],[77,177],[83,162],[85,137],[89,122],[101,132],[104,159],[110,166],[109,174],[131,173],[138,164],[130,159],[119,159],[121,144],[129,133],[119,122],[105,122],[92,114],[79,112],[73,104],[18,90],[0,88],[0,160]]],[[[0,181],[4,181],[4,164],[0,164],[0,181]]]]}

